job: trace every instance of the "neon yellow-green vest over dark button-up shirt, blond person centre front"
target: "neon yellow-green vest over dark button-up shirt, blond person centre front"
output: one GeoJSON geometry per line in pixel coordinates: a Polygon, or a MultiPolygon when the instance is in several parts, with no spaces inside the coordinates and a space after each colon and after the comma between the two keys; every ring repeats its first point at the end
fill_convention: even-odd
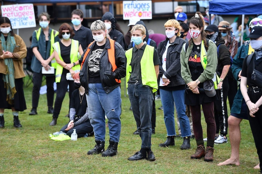
{"type": "MultiPolygon", "coordinates": [[[[130,78],[132,72],[131,59],[132,59],[133,48],[126,51],[126,87],[127,82],[130,78]]],[[[155,71],[155,66],[153,62],[154,57],[154,47],[146,45],[145,51],[140,61],[141,66],[141,77],[142,84],[152,87],[153,93],[157,92],[157,76],[155,71]]]]}

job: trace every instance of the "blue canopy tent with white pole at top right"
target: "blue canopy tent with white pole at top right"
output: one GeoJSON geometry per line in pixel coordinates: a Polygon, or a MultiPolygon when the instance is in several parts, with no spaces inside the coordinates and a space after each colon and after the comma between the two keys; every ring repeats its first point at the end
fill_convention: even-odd
{"type": "MultiPolygon", "coordinates": [[[[262,14],[259,0],[212,0],[209,2],[209,18],[215,15],[242,15],[242,26],[245,15],[262,14]]],[[[243,36],[243,28],[241,30],[243,36]]],[[[243,38],[241,37],[241,43],[243,38]]]]}

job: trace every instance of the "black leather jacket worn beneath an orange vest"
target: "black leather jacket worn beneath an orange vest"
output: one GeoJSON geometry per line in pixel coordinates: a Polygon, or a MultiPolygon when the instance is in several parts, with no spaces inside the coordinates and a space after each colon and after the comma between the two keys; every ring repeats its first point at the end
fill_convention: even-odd
{"type": "MultiPolygon", "coordinates": [[[[96,42],[94,42],[89,47],[90,52],[88,53],[79,74],[80,83],[85,88],[85,93],[87,95],[88,95],[88,58],[91,55],[91,52],[95,44],[96,42]]],[[[115,79],[121,79],[122,77],[126,76],[126,55],[124,49],[119,43],[115,42],[115,65],[117,68],[115,69],[114,72],[112,71],[112,64],[109,62],[108,59],[108,51],[107,51],[108,49],[110,49],[109,39],[107,39],[105,42],[105,48],[101,53],[100,63],[99,63],[100,79],[106,94],[110,93],[116,87],[120,86],[120,83],[117,83],[115,79]]],[[[84,53],[79,59],[79,64],[82,63],[86,51],[87,49],[84,50],[84,53]]]]}

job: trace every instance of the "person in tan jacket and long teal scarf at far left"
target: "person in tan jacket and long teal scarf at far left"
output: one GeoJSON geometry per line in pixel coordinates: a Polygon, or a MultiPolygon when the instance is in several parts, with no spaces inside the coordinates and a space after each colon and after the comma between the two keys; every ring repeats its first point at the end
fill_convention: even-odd
{"type": "Polygon", "coordinates": [[[26,110],[23,90],[23,58],[26,57],[26,44],[14,34],[11,21],[0,18],[0,128],[5,127],[4,111],[11,109],[14,116],[14,127],[22,127],[18,114],[26,110]]]}

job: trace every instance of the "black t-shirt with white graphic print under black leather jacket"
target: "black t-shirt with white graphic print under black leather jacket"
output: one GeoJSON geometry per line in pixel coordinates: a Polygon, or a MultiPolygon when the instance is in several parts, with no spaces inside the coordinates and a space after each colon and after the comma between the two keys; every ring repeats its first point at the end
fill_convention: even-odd
{"type": "Polygon", "coordinates": [[[105,44],[98,46],[95,44],[94,50],[88,58],[88,83],[101,83],[100,80],[100,56],[105,48],[105,44]]]}

